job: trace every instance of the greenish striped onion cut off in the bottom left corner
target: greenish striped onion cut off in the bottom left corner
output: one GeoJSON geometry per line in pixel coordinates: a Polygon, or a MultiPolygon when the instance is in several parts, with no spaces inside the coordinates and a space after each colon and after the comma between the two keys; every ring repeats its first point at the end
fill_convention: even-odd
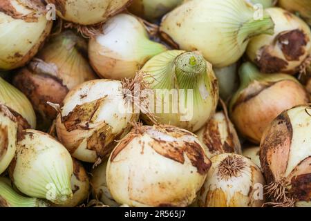
{"type": "Polygon", "coordinates": [[[48,203],[37,198],[27,198],[16,193],[10,180],[0,177],[0,207],[47,207],[48,203]]]}

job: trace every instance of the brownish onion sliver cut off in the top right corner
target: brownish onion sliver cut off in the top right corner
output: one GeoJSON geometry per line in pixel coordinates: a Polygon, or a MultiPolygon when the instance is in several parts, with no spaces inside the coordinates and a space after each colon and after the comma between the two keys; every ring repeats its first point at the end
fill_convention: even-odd
{"type": "Polygon", "coordinates": [[[279,0],[279,6],[290,12],[298,12],[311,26],[311,3],[309,0],[279,0]]]}

